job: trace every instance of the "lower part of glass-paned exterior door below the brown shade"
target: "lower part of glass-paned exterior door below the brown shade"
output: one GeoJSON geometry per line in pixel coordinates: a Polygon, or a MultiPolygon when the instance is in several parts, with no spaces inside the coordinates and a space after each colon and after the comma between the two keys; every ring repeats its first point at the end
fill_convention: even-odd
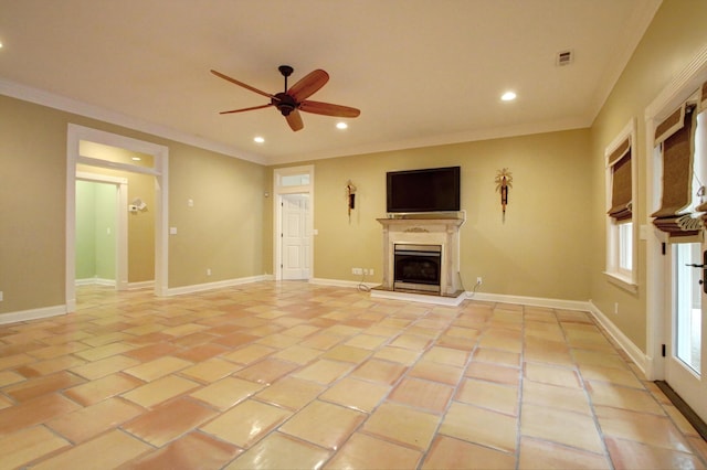
{"type": "Polygon", "coordinates": [[[707,245],[672,246],[673,282],[666,382],[707,421],[707,245]]]}

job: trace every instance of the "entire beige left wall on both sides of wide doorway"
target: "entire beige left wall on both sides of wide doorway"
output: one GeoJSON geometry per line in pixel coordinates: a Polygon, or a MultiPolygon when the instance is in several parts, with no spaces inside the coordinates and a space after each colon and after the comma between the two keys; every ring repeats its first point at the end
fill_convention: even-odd
{"type": "Polygon", "coordinates": [[[169,148],[169,287],[263,274],[264,167],[7,96],[0,122],[0,314],[65,303],[68,124],[169,148]]]}

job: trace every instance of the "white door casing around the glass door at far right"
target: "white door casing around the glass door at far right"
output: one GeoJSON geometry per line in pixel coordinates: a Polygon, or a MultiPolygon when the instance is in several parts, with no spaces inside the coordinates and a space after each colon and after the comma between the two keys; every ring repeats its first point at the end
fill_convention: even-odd
{"type": "Polygon", "coordinates": [[[666,361],[663,345],[668,344],[666,314],[672,316],[669,296],[665,293],[671,267],[666,254],[663,254],[665,236],[650,223],[650,214],[657,207],[661,195],[661,181],[657,174],[657,157],[654,150],[655,128],[672,111],[683,104],[703,83],[707,82],[707,45],[678,73],[656,98],[645,108],[645,161],[646,161],[646,366],[645,375],[650,381],[665,378],[666,361]],[[656,180],[656,177],[658,178],[656,180]],[[650,232],[650,233],[648,233],[650,232]]]}

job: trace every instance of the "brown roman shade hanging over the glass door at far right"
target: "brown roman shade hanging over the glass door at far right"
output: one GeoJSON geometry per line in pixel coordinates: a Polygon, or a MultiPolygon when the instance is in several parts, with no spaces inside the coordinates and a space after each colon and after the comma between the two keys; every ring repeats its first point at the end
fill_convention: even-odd
{"type": "Polygon", "coordinates": [[[671,241],[696,235],[703,227],[701,217],[685,211],[693,201],[695,110],[695,105],[683,104],[655,129],[655,146],[659,146],[663,160],[663,186],[661,207],[651,216],[671,241]]]}

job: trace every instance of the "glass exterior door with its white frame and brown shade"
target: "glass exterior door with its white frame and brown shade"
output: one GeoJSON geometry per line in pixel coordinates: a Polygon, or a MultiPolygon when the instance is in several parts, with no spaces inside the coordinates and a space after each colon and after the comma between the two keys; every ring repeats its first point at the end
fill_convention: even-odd
{"type": "MultiPolygon", "coordinates": [[[[665,212],[664,207],[668,207],[667,215],[673,216],[674,212],[673,218],[679,221],[674,227],[663,225],[659,229],[659,224],[652,224],[656,226],[652,232],[645,227],[650,233],[645,372],[648,380],[666,385],[665,389],[676,397],[678,409],[684,406],[683,414],[695,419],[690,423],[696,429],[704,428],[707,420],[707,245],[699,223],[703,210],[698,210],[705,202],[707,183],[706,90],[707,49],[703,49],[645,110],[645,148],[650,149],[646,212],[657,214],[654,211],[665,212]],[[671,117],[675,124],[666,127],[671,117]],[[680,146],[676,147],[676,142],[680,146]],[[665,174],[672,177],[664,178],[665,174]],[[674,194],[678,197],[672,199],[674,194]]],[[[665,215],[656,217],[661,216],[665,215]]]]}

